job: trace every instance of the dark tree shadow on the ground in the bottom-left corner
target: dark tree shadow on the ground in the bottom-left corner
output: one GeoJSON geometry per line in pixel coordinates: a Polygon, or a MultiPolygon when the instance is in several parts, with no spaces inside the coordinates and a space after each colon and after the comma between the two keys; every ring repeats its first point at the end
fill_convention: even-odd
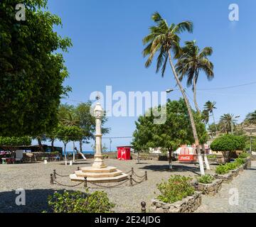
{"type": "MultiPolygon", "coordinates": [[[[53,189],[26,190],[26,205],[16,205],[15,191],[0,192],[0,213],[41,213],[51,212],[48,206],[48,196],[53,195],[53,189]]],[[[58,190],[57,192],[63,192],[58,190]]]]}

